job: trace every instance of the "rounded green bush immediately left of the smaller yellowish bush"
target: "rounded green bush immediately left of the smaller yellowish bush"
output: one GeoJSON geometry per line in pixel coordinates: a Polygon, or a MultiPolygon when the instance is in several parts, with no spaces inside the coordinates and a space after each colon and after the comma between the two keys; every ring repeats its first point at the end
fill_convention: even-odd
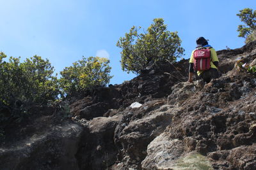
{"type": "Polygon", "coordinates": [[[23,73],[24,94],[36,103],[47,103],[57,99],[58,81],[54,73],[54,67],[48,59],[35,55],[20,64],[23,73]]]}

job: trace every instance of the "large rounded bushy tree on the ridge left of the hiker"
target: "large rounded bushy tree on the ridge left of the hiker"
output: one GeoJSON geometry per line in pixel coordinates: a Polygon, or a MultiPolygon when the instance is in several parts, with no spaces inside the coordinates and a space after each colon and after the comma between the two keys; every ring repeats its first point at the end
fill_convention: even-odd
{"type": "Polygon", "coordinates": [[[155,18],[147,31],[138,33],[141,27],[131,27],[116,46],[122,48],[121,64],[124,71],[140,74],[157,61],[176,60],[184,52],[177,32],[167,31],[163,18],[155,18]]]}

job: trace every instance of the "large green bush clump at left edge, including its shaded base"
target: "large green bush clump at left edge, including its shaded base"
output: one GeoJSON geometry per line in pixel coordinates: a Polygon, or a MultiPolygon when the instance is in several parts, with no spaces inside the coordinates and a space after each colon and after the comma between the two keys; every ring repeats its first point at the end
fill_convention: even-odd
{"type": "MultiPolygon", "coordinates": [[[[33,106],[50,104],[58,97],[58,81],[52,76],[49,60],[34,56],[20,62],[20,57],[0,53],[0,131],[4,125],[20,121],[33,106]]],[[[0,132],[1,134],[1,132],[0,132]]]]}

